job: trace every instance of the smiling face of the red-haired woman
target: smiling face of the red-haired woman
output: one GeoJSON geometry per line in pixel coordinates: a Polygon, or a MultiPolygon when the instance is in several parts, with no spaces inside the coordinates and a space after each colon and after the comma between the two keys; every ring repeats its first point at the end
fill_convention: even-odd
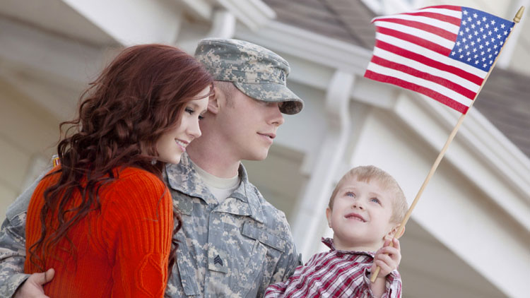
{"type": "Polygon", "coordinates": [[[156,141],[158,160],[172,164],[179,163],[187,145],[201,136],[199,119],[206,113],[209,93],[210,87],[208,86],[195,96],[199,97],[199,100],[187,102],[181,115],[180,124],[175,125],[158,138],[156,141]]]}

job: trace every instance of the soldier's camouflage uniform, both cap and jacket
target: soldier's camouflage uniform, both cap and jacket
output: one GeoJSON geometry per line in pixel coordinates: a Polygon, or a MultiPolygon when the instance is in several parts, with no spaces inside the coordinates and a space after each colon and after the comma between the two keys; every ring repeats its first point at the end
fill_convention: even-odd
{"type": "MultiPolygon", "coordinates": [[[[289,64],[268,49],[241,40],[206,39],[195,56],[216,81],[233,82],[249,97],[282,102],[285,114],[303,107],[285,83],[289,64]]],[[[179,165],[167,165],[166,174],[183,220],[176,235],[177,264],[166,289],[170,297],[261,297],[267,285],[288,278],[301,264],[285,215],[248,181],[245,167],[240,165],[240,186],[220,204],[187,155],[179,165]]],[[[23,274],[25,215],[39,180],[10,206],[2,225],[0,297],[11,297],[29,276],[23,274]]]]}

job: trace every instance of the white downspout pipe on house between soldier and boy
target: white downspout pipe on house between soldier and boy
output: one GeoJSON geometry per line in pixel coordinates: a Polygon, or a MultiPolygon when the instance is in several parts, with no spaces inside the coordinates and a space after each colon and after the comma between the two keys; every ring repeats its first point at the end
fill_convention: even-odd
{"type": "Polygon", "coordinates": [[[328,130],[314,162],[310,180],[293,214],[293,236],[304,258],[309,258],[318,244],[318,233],[322,231],[321,219],[328,204],[331,184],[348,142],[348,110],[353,81],[351,73],[337,70],[327,88],[325,112],[328,130]]]}

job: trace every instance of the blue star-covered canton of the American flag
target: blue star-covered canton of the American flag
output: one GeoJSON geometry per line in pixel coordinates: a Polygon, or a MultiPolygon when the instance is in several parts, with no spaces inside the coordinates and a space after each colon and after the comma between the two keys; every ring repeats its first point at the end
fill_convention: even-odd
{"type": "Polygon", "coordinates": [[[490,71],[514,22],[462,6],[462,19],[452,59],[490,71]]]}

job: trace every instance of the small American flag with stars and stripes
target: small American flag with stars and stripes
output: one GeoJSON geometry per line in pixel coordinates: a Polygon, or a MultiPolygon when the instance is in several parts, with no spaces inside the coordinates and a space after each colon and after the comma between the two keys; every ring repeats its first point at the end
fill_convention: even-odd
{"type": "Polygon", "coordinates": [[[462,6],[374,18],[365,77],[434,98],[465,114],[514,22],[462,6]]]}

